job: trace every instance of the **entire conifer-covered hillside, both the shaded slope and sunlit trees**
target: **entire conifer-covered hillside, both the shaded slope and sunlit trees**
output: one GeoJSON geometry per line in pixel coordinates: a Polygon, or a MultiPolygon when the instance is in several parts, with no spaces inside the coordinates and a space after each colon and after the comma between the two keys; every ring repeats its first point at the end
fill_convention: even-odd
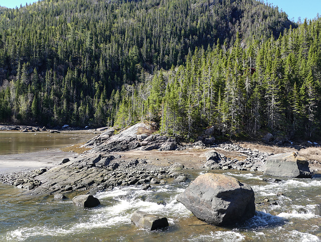
{"type": "Polygon", "coordinates": [[[252,0],[0,8],[0,122],[319,135],[319,20],[296,28],[252,0]]]}

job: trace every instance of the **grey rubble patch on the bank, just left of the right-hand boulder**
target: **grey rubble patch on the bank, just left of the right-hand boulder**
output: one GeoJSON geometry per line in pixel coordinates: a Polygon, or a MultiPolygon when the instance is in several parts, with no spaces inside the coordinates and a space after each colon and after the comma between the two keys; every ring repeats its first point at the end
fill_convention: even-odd
{"type": "Polygon", "coordinates": [[[271,154],[262,153],[258,150],[251,150],[249,148],[243,148],[235,144],[220,144],[220,148],[226,151],[238,151],[240,155],[246,157],[244,160],[230,159],[223,154],[219,154],[216,151],[209,151],[206,155],[206,163],[204,167],[208,169],[236,169],[236,170],[260,170],[265,164],[267,157],[271,154]]]}

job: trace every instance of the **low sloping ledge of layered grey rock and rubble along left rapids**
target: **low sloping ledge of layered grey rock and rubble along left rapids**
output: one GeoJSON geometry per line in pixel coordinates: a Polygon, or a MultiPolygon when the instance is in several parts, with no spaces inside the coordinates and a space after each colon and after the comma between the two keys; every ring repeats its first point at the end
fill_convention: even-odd
{"type": "MultiPolygon", "coordinates": [[[[182,165],[152,165],[147,159],[123,159],[119,155],[104,153],[83,154],[64,160],[50,170],[38,169],[32,172],[12,173],[0,176],[0,181],[27,188],[29,194],[54,194],[70,191],[86,191],[91,194],[127,185],[149,185],[165,183],[164,179],[174,177],[184,182],[182,165]]],[[[145,189],[148,189],[146,186],[145,189]]]]}

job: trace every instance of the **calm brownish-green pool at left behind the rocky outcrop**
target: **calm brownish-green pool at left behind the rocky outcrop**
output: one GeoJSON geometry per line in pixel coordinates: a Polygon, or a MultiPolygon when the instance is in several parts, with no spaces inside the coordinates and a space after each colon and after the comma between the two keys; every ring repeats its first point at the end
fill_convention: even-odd
{"type": "Polygon", "coordinates": [[[0,155],[36,152],[81,143],[93,134],[48,132],[0,132],[0,155]]]}

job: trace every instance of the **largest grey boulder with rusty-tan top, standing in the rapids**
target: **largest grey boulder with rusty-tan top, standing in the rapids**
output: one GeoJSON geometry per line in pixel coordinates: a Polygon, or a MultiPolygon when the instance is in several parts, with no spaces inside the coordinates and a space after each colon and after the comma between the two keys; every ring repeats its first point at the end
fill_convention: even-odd
{"type": "Polygon", "coordinates": [[[198,176],[177,200],[200,220],[229,226],[255,213],[254,192],[236,178],[206,173],[198,176]]]}

